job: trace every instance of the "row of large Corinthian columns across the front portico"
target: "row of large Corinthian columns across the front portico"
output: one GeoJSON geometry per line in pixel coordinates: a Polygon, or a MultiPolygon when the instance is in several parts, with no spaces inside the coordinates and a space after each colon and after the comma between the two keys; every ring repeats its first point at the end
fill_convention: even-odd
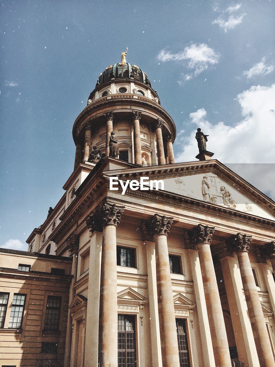
{"type": "MultiPolygon", "coordinates": [[[[117,353],[115,352],[115,350],[117,350],[116,228],[120,223],[121,214],[123,212],[124,207],[104,202],[93,216],[90,217],[92,220],[87,220],[88,228],[91,228],[89,223],[92,223],[92,226],[96,226],[96,229],[94,228],[92,231],[100,230],[103,234],[98,345],[100,366],[117,366],[117,353]]],[[[155,245],[162,367],[180,366],[167,244],[167,237],[172,223],[172,217],[154,214],[154,216],[148,219],[144,225],[144,232],[148,236],[148,239],[153,241],[155,245]]],[[[214,363],[216,367],[231,367],[223,310],[214,270],[214,263],[210,251],[210,243],[213,233],[214,227],[198,224],[185,233],[184,242],[187,245],[187,248],[192,250],[192,255],[194,255],[194,252],[197,252],[197,258],[199,258],[206,312],[212,339],[214,363]]],[[[251,359],[251,356],[253,355],[253,347],[251,343],[249,344],[249,332],[251,333],[251,331],[249,331],[249,327],[245,324],[244,311],[241,309],[241,306],[239,306],[241,302],[245,302],[242,295],[243,288],[260,366],[275,367],[260,298],[258,296],[252,267],[248,257],[249,244],[251,240],[251,236],[237,233],[236,235],[229,237],[219,246],[215,246],[215,248],[219,254],[221,262],[221,269],[225,279],[225,289],[230,310],[233,310],[234,307],[236,307],[237,311],[232,315],[234,334],[238,334],[237,337],[239,339],[237,342],[237,348],[238,346],[241,346],[242,343],[245,347],[247,346],[247,348],[245,348],[245,353],[247,353],[247,356],[245,357],[247,366],[254,366],[254,362],[251,359]],[[236,287],[232,287],[232,279],[230,275],[232,268],[230,266],[230,261],[236,261],[236,258],[232,257],[234,252],[237,255],[242,280],[242,286],[237,284],[236,287]],[[238,330],[238,333],[236,330],[238,330]]],[[[271,242],[266,246],[261,247],[260,251],[261,256],[265,259],[270,258],[272,260],[272,266],[275,267],[275,242],[271,242]]],[[[194,280],[195,297],[198,296],[196,292],[200,292],[199,297],[201,298],[202,290],[197,288],[194,280]]],[[[198,308],[198,314],[199,312],[200,310],[198,308]]],[[[205,318],[204,315],[203,318],[205,318]]],[[[203,348],[208,348],[205,346],[205,343],[202,343],[202,349],[203,348]]],[[[209,350],[202,350],[202,355],[206,355],[207,353],[209,354],[209,350]]],[[[209,357],[209,360],[210,359],[211,357],[209,357]]],[[[205,361],[205,365],[207,366],[208,364],[209,363],[205,361]]],[[[212,364],[209,365],[212,366],[212,364]]]]}

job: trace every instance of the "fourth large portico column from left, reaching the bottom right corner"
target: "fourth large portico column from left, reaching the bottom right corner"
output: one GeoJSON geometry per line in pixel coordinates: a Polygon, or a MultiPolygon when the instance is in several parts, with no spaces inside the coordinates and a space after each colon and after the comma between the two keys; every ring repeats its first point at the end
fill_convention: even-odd
{"type": "Polygon", "coordinates": [[[249,244],[251,240],[251,236],[237,233],[227,240],[227,245],[231,251],[236,251],[236,255],[238,257],[243,291],[245,292],[247,310],[254,335],[260,366],[274,367],[275,361],[265,325],[264,314],[248,257],[249,244]]]}

